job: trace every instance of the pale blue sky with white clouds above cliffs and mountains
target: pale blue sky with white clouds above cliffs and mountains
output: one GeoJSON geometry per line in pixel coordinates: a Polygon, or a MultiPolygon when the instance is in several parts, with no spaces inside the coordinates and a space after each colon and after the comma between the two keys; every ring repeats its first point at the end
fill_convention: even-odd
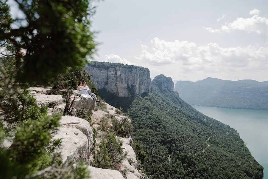
{"type": "Polygon", "coordinates": [[[268,80],[268,1],[105,0],[96,61],[148,67],[174,82],[268,80]]]}

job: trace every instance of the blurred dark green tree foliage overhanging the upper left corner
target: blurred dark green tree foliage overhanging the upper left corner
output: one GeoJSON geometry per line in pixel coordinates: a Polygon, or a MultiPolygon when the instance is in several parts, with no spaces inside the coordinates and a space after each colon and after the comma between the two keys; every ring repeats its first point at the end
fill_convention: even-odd
{"type": "Polygon", "coordinates": [[[27,25],[11,29],[13,20],[6,21],[0,41],[10,41],[14,48],[26,50],[23,70],[16,75],[19,82],[50,84],[55,75],[81,67],[94,53],[96,43],[89,30],[94,8],[89,8],[89,0],[15,1],[27,25]]]}

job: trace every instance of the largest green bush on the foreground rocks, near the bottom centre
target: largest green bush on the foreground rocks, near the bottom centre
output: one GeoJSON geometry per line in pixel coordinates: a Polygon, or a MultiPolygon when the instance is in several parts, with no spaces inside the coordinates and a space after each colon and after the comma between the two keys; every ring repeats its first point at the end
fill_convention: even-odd
{"type": "Polygon", "coordinates": [[[94,166],[104,169],[119,169],[120,163],[126,158],[127,153],[123,152],[122,141],[116,139],[114,133],[107,134],[99,144],[99,150],[95,155],[94,166]]]}

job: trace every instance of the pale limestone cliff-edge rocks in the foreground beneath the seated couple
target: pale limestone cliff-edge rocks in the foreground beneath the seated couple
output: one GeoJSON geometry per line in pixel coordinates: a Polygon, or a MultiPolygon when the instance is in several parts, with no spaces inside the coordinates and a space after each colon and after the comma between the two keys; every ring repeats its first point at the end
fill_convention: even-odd
{"type": "MultiPolygon", "coordinates": [[[[61,95],[51,95],[52,89],[50,88],[40,88],[34,87],[29,89],[31,94],[35,97],[38,105],[47,104],[49,106],[49,115],[55,113],[62,113],[64,106],[61,95]]],[[[74,91],[76,92],[76,91],[74,91]]],[[[62,161],[65,165],[74,164],[74,166],[79,162],[84,162],[87,169],[90,172],[90,177],[92,179],[138,179],[140,177],[146,178],[144,173],[138,170],[138,161],[136,159],[136,154],[132,148],[132,139],[130,136],[127,138],[117,137],[122,142],[122,150],[125,153],[125,157],[118,163],[118,166],[112,166],[114,169],[104,169],[90,166],[94,164],[95,153],[99,150],[100,142],[104,139],[103,135],[107,135],[107,132],[111,130],[111,116],[117,120],[122,120],[127,118],[123,114],[118,114],[116,108],[110,106],[107,103],[101,102],[100,106],[95,106],[95,101],[92,98],[84,99],[79,96],[75,97],[74,102],[74,113],[70,115],[63,115],[60,119],[60,127],[57,133],[54,135],[53,139],[61,139],[61,147],[59,152],[62,156],[62,161]],[[79,110],[84,109],[87,114],[87,120],[82,119],[79,115],[79,110]],[[94,110],[92,110],[94,109],[94,110]],[[88,117],[90,115],[90,117],[88,117]],[[110,116],[106,118],[105,126],[107,131],[103,129],[105,116],[110,116]],[[95,130],[95,133],[93,132],[95,130]],[[95,149],[94,149],[95,148],[95,149]]],[[[72,97],[72,98],[73,98],[72,97]]],[[[128,120],[130,120],[128,118],[128,120]]],[[[6,147],[10,147],[12,142],[5,142],[6,147]]],[[[97,154],[96,154],[97,155],[97,154]]]]}

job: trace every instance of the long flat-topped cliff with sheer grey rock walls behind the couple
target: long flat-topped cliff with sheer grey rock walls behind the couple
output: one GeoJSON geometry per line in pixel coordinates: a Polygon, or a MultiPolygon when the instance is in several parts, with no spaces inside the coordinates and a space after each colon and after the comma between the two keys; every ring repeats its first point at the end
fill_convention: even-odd
{"type": "Polygon", "coordinates": [[[119,63],[92,61],[85,69],[97,89],[107,90],[118,97],[144,95],[152,92],[148,68],[119,63]]]}

